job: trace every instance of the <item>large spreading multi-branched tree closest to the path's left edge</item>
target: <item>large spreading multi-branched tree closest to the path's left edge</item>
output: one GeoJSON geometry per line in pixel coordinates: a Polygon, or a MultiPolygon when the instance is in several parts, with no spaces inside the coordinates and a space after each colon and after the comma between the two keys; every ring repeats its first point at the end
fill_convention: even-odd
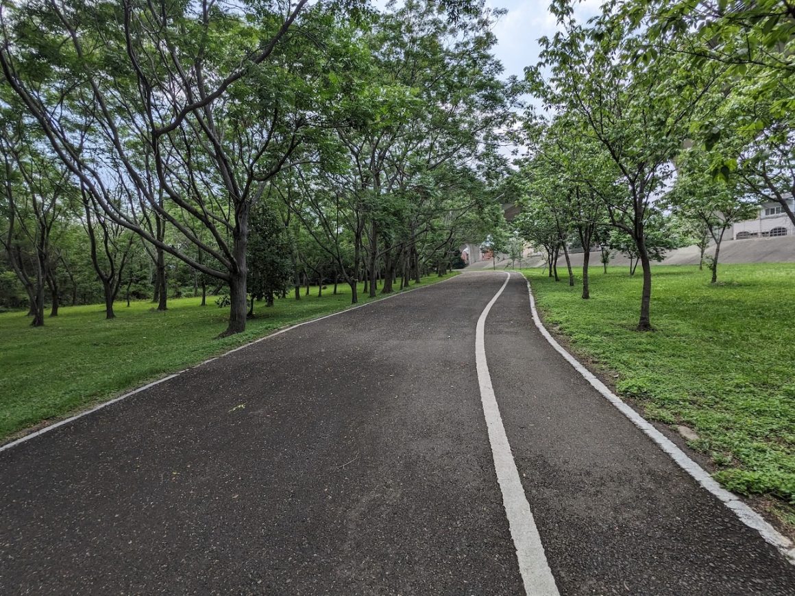
{"type": "Polygon", "coordinates": [[[288,32],[311,27],[336,48],[326,36],[343,29],[306,4],[282,17],[219,2],[44,0],[3,14],[2,72],[57,157],[116,225],[229,284],[226,335],[246,325],[250,210],[333,95],[316,93],[333,87],[333,52],[288,32]],[[136,200],[218,267],[151,233],[136,200]]]}

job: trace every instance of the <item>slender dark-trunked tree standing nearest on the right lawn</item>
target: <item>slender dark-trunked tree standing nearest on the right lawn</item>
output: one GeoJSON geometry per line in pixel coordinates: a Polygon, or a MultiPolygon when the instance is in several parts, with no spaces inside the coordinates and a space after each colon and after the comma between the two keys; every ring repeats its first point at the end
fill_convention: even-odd
{"type": "Polygon", "coordinates": [[[672,176],[689,118],[715,75],[705,72],[700,86],[685,85],[673,59],[650,60],[648,53],[638,52],[630,25],[615,18],[611,7],[607,4],[603,17],[586,29],[573,21],[569,2],[554,3],[551,10],[564,30],[552,40],[541,39],[541,63],[527,72],[545,104],[577,114],[619,171],[623,192],[604,195],[603,201],[611,226],[635,243],[643,269],[638,331],[649,331],[652,275],[646,223],[672,176]]]}

